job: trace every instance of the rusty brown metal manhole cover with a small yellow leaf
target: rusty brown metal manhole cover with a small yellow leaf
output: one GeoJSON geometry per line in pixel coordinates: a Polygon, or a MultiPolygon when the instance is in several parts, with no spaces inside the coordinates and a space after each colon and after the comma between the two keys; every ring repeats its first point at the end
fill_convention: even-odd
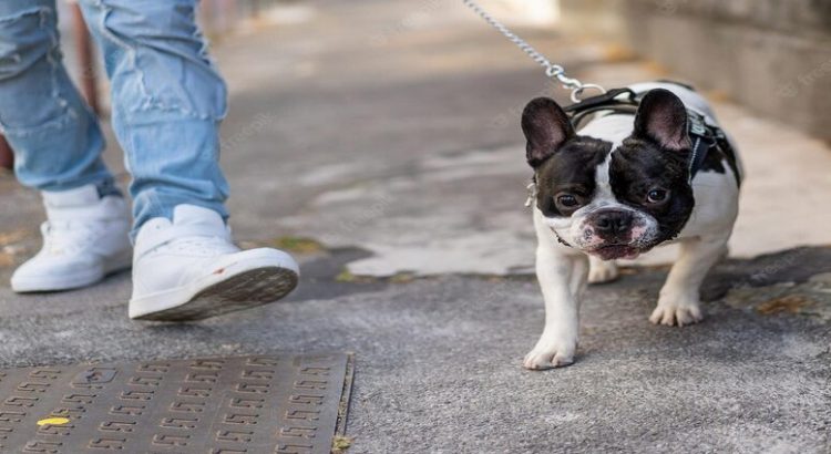
{"type": "Polygon", "coordinates": [[[350,354],[0,371],[0,452],[329,453],[350,354]]]}

